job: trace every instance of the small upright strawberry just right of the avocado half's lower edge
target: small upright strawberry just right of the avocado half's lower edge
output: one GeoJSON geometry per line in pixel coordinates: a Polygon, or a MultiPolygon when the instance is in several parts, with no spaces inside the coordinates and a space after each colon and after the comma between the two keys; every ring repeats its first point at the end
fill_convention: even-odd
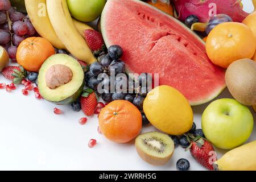
{"type": "Polygon", "coordinates": [[[91,116],[94,114],[98,104],[97,95],[93,89],[86,89],[80,98],[81,109],[85,115],[91,116]]]}

